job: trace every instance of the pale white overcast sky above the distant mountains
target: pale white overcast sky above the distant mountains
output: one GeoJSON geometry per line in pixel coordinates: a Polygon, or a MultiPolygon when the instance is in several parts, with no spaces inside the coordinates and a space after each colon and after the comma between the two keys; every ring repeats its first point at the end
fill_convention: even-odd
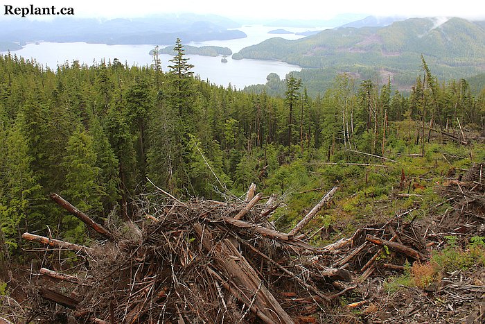
{"type": "Polygon", "coordinates": [[[154,13],[195,12],[233,19],[330,19],[341,13],[485,19],[483,4],[479,4],[482,1],[478,0],[0,0],[0,3],[2,7],[6,4],[29,6],[30,3],[39,7],[72,7],[76,17],[141,17],[154,13]]]}

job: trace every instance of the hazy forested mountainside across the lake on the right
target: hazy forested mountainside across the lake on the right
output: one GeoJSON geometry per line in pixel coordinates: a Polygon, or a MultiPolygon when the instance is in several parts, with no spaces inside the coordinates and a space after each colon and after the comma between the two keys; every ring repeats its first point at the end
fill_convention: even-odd
{"type": "Polygon", "coordinates": [[[483,73],[485,30],[460,18],[412,18],[385,27],[328,29],[299,40],[271,38],[234,54],[306,68],[298,76],[312,94],[342,72],[380,84],[390,77],[394,87],[410,89],[421,55],[443,80],[483,73]]]}

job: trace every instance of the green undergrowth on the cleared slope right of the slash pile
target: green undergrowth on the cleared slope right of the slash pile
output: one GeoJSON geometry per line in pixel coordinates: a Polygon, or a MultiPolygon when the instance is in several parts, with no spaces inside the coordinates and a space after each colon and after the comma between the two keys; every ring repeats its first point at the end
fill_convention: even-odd
{"type": "Polygon", "coordinates": [[[295,157],[268,173],[260,185],[265,194],[276,192],[283,200],[284,207],[272,217],[280,230],[294,227],[326,192],[339,187],[332,201],[304,229],[311,235],[331,225],[335,232],[321,240],[318,235],[312,238],[312,243],[324,245],[351,235],[364,223],[385,222],[412,208],[416,208],[417,219],[445,212],[450,207],[443,198],[447,182],[485,160],[485,148],[478,144],[431,142],[425,143],[423,156],[414,153],[420,150],[421,145],[411,145],[413,153],[403,154],[389,144],[385,156],[389,160],[340,151],[329,162],[326,152],[317,152],[312,160],[295,157]],[[352,163],[370,165],[349,165],[352,163]]]}

